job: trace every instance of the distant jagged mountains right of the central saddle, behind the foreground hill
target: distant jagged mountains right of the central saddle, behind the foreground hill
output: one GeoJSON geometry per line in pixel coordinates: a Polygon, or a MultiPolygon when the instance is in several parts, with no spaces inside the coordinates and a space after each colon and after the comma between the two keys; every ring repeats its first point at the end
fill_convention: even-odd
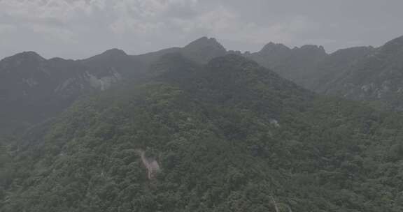
{"type": "Polygon", "coordinates": [[[401,111],[402,52],[403,36],[381,47],[351,47],[332,54],[315,45],[291,49],[269,43],[260,52],[243,56],[311,91],[401,111]]]}

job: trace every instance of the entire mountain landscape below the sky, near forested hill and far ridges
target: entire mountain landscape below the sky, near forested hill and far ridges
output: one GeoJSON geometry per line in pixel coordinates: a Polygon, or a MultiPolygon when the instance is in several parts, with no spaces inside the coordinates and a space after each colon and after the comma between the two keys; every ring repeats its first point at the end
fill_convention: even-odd
{"type": "Polygon", "coordinates": [[[0,211],[402,211],[402,40],[10,56],[0,211]]]}

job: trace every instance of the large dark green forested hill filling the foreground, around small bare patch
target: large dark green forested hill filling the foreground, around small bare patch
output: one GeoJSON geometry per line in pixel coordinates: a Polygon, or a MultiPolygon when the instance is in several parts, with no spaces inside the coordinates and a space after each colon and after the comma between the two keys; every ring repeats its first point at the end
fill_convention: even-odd
{"type": "Polygon", "coordinates": [[[401,114],[236,55],[150,73],[2,139],[0,211],[403,211],[401,114]]]}

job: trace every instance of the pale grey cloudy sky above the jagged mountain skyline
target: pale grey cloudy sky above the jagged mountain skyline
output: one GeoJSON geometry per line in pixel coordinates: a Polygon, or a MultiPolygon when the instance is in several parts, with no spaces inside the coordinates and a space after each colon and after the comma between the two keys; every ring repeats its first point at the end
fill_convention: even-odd
{"type": "Polygon", "coordinates": [[[402,0],[0,0],[0,57],[140,54],[201,36],[228,50],[273,41],[327,52],[403,36],[402,0]]]}

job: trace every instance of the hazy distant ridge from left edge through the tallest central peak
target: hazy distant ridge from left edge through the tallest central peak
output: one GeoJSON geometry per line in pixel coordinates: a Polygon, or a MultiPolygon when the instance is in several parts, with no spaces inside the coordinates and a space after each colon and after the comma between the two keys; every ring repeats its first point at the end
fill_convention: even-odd
{"type": "Polygon", "coordinates": [[[215,39],[204,37],[183,48],[136,56],[113,49],[83,60],[44,59],[36,52],[7,57],[0,61],[0,135],[57,116],[80,96],[142,80],[150,64],[167,52],[181,52],[201,63],[226,54],[215,39]]]}

